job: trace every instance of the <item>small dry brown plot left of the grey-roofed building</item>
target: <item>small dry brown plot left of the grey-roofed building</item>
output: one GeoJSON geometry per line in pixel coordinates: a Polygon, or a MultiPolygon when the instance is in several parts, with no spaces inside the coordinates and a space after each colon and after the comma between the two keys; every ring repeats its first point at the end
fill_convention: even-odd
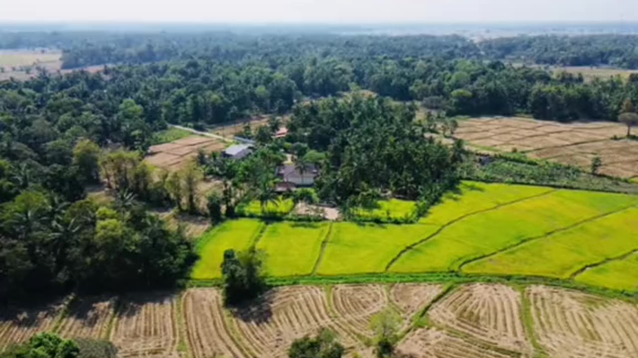
{"type": "Polygon", "coordinates": [[[197,157],[200,149],[207,154],[221,152],[227,145],[216,138],[188,136],[181,140],[152,145],[145,161],[158,168],[174,171],[197,157]]]}

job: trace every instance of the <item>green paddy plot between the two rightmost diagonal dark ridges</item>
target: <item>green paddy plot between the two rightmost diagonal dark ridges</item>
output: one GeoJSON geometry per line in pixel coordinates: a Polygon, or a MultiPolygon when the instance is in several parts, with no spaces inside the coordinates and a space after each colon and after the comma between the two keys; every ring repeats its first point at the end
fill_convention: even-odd
{"type": "MultiPolygon", "coordinates": [[[[632,197],[618,198],[627,206],[632,197]]],[[[638,249],[638,208],[619,211],[471,262],[463,272],[569,278],[588,264],[638,249]]]]}

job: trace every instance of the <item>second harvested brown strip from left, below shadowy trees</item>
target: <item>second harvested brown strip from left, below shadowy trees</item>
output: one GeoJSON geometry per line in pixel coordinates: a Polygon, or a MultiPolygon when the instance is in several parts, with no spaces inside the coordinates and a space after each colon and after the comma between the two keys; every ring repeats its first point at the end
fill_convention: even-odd
{"type": "Polygon", "coordinates": [[[61,322],[59,334],[65,338],[107,338],[108,322],[113,317],[113,297],[75,299],[61,322]]]}

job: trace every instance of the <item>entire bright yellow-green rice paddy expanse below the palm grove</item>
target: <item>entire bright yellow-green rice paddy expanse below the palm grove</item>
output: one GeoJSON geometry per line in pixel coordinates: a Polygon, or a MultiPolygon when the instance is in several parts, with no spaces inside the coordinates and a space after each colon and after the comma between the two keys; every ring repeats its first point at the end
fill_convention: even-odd
{"type": "MultiPolygon", "coordinates": [[[[413,206],[385,204],[403,217],[413,206]],[[405,212],[403,212],[405,211],[405,212]]],[[[256,246],[272,277],[457,273],[638,291],[638,196],[464,182],[416,224],[230,220],[198,242],[193,280],[256,246]]]]}

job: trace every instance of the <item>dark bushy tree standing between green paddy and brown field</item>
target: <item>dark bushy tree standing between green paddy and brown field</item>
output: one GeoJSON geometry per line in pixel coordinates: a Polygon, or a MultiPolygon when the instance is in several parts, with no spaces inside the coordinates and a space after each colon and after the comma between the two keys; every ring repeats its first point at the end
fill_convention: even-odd
{"type": "Polygon", "coordinates": [[[266,288],[262,266],[262,255],[255,249],[224,252],[221,273],[225,304],[240,304],[262,294],[266,288]]]}

